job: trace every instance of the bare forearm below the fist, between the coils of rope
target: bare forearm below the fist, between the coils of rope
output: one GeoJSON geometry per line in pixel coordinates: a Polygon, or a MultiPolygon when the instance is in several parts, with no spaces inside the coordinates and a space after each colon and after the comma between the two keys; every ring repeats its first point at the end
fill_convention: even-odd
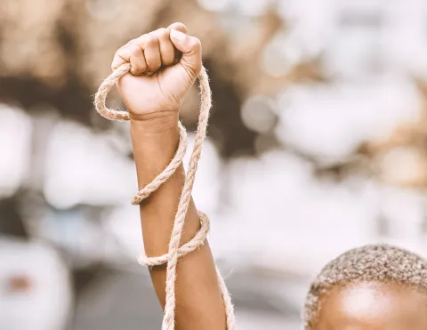
{"type": "MultiPolygon", "coordinates": [[[[163,122],[131,122],[133,153],[139,186],[145,186],[169,164],[177,149],[176,118],[163,122]]],[[[146,254],[167,253],[173,219],[181,196],[185,173],[181,166],[148,199],[141,203],[141,227],[146,254]]],[[[191,201],[181,237],[188,242],[200,228],[197,209],[191,201]]],[[[150,270],[157,297],[165,307],[165,267],[150,270]]],[[[178,329],[225,329],[225,312],[209,245],[183,257],[177,268],[176,321],[178,329]]]]}

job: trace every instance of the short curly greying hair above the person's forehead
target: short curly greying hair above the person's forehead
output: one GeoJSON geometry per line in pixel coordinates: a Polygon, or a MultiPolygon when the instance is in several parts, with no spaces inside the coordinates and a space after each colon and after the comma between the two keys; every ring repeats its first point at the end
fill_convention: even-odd
{"type": "Polygon", "coordinates": [[[302,316],[304,328],[310,330],[314,326],[322,294],[333,286],[364,281],[399,283],[426,292],[427,261],[391,245],[365,245],[341,254],[311,284],[302,316]]]}

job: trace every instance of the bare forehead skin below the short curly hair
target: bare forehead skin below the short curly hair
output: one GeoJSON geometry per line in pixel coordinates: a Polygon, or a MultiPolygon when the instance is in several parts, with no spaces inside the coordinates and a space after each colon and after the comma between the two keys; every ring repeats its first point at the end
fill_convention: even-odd
{"type": "Polygon", "coordinates": [[[409,329],[427,329],[425,294],[403,285],[360,282],[321,296],[312,330],[409,329]]]}

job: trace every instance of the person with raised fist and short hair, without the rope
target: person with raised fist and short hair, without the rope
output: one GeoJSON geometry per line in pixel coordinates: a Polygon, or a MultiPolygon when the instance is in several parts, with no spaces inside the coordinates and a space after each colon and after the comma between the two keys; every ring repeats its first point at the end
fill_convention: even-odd
{"type": "MultiPolygon", "coordinates": [[[[145,186],[173,158],[181,103],[202,68],[202,47],[181,23],[137,37],[117,50],[111,68],[131,64],[117,83],[131,118],[138,184],[145,186]]],[[[173,218],[185,179],[181,166],[141,207],[148,257],[167,253],[173,218]]],[[[181,244],[199,229],[191,201],[181,244]]],[[[427,329],[427,263],[388,245],[351,250],[326,265],[310,287],[303,321],[308,330],[427,329]]],[[[165,307],[165,267],[150,269],[165,307]]],[[[226,329],[226,316],[208,243],[181,258],[176,281],[176,327],[226,329]]]]}

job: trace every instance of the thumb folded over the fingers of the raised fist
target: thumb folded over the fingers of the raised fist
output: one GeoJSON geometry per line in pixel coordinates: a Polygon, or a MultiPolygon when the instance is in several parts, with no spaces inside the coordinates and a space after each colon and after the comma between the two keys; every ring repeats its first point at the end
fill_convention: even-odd
{"type": "Polygon", "coordinates": [[[171,30],[171,40],[176,49],[182,52],[181,65],[196,78],[202,68],[202,46],[196,36],[188,36],[176,29],[171,30]]]}

